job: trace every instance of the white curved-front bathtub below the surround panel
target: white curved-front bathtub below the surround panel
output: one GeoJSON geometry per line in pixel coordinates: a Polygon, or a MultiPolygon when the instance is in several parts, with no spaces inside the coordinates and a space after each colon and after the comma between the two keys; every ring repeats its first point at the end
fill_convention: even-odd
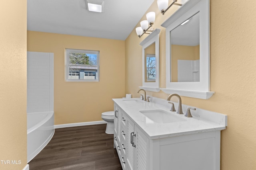
{"type": "Polygon", "coordinates": [[[32,160],[54,135],[54,112],[27,113],[27,155],[32,160]]]}

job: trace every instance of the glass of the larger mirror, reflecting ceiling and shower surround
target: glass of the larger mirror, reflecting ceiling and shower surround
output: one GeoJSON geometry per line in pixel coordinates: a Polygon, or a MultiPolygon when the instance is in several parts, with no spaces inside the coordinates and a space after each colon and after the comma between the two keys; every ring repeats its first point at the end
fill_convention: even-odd
{"type": "Polygon", "coordinates": [[[200,82],[199,12],[170,31],[171,82],[200,82]]]}

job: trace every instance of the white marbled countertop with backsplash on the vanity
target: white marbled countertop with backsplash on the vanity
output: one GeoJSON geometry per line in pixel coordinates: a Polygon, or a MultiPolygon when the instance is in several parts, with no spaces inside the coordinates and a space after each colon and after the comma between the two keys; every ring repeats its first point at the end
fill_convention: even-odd
{"type": "MultiPolygon", "coordinates": [[[[205,113],[196,113],[196,111],[191,110],[191,114],[193,117],[185,117],[186,110],[183,108],[184,114],[177,114],[175,111],[170,111],[170,107],[164,106],[162,104],[158,104],[156,102],[145,102],[140,100],[140,98],[121,98],[121,99],[113,99],[113,101],[128,114],[129,118],[132,119],[137,127],[140,128],[141,131],[148,136],[149,139],[159,139],[164,137],[174,137],[180,135],[188,135],[194,133],[203,133],[209,131],[220,131],[226,129],[227,116],[220,113],[209,113],[209,117],[213,117],[214,121],[210,121],[209,119],[200,118],[200,114],[203,117],[207,117],[206,111],[205,113]],[[168,113],[173,114],[178,117],[182,117],[186,119],[186,121],[174,122],[174,123],[155,123],[140,111],[142,110],[152,110],[152,109],[161,109],[164,111],[168,111],[168,113]],[[199,116],[196,117],[195,115],[199,116]],[[216,120],[217,119],[217,120],[216,120]],[[218,120],[220,119],[220,120],[218,120]],[[223,123],[216,123],[216,122],[223,123]]],[[[167,102],[167,101],[166,101],[167,102]]],[[[176,109],[178,107],[175,107],[176,109]]],[[[186,106],[185,106],[186,108],[186,106]]],[[[200,109],[198,112],[202,112],[200,109]]]]}

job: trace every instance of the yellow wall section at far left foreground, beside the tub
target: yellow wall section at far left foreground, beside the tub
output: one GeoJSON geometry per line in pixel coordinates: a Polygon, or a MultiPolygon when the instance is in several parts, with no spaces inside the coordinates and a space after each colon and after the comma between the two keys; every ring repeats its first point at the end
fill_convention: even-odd
{"type": "Polygon", "coordinates": [[[1,1],[0,8],[0,160],[10,161],[0,169],[18,170],[27,164],[27,1],[1,1]]]}

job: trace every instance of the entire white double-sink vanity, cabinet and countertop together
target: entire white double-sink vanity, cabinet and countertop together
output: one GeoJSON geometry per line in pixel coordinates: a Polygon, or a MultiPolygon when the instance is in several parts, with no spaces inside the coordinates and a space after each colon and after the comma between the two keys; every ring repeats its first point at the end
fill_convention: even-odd
{"type": "Polygon", "coordinates": [[[193,117],[185,117],[191,106],[182,105],[185,113],[177,114],[168,101],[150,100],[113,99],[114,148],[123,170],[220,170],[220,131],[227,116],[196,108],[193,117]]]}

